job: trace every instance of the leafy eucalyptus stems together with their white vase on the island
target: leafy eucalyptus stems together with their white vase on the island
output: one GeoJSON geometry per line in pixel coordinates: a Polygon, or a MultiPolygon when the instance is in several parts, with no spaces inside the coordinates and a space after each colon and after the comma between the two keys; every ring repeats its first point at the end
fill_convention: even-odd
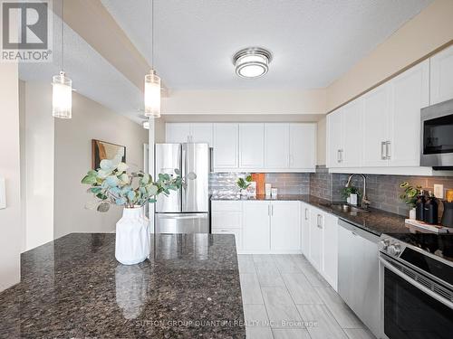
{"type": "MultiPolygon", "coordinates": [[[[101,168],[88,171],[82,184],[90,185],[88,193],[95,200],[86,207],[98,212],[109,211],[111,204],[123,207],[120,221],[116,224],[115,258],[125,265],[138,264],[149,257],[149,221],[143,212],[143,206],[156,202],[159,194],[169,195],[176,191],[186,178],[178,170],[175,174],[159,174],[153,181],[150,174],[143,172],[128,173],[129,166],[117,156],[111,160],[102,160],[101,168]]],[[[196,175],[188,174],[187,179],[196,175]]]]}

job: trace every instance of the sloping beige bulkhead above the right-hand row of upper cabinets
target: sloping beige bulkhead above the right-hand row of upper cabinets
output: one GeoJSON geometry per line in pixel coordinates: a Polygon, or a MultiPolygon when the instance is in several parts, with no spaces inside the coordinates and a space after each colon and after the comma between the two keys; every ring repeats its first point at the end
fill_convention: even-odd
{"type": "Polygon", "coordinates": [[[327,88],[327,111],[453,40],[453,1],[437,0],[327,88]]]}

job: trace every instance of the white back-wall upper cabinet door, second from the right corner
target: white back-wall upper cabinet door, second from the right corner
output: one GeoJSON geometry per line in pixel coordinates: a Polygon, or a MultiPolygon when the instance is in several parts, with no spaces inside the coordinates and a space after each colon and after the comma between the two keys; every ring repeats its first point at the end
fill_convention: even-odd
{"type": "Polygon", "coordinates": [[[289,124],[265,124],[265,168],[289,167],[289,124]]]}

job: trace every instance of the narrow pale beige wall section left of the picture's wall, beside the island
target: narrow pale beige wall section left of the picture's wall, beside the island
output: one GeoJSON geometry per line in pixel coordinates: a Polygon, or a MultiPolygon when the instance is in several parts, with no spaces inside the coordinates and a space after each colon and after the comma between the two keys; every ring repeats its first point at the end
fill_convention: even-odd
{"type": "Polygon", "coordinates": [[[24,251],[53,240],[52,85],[20,81],[19,99],[24,251]]]}

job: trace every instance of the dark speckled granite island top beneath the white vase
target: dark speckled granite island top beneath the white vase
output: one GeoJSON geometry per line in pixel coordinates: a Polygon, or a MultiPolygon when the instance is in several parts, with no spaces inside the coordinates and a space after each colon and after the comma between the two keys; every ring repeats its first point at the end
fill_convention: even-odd
{"type": "Polygon", "coordinates": [[[155,235],[132,266],[114,251],[114,234],[72,233],[24,252],[0,337],[246,336],[234,236],[155,235]]]}

